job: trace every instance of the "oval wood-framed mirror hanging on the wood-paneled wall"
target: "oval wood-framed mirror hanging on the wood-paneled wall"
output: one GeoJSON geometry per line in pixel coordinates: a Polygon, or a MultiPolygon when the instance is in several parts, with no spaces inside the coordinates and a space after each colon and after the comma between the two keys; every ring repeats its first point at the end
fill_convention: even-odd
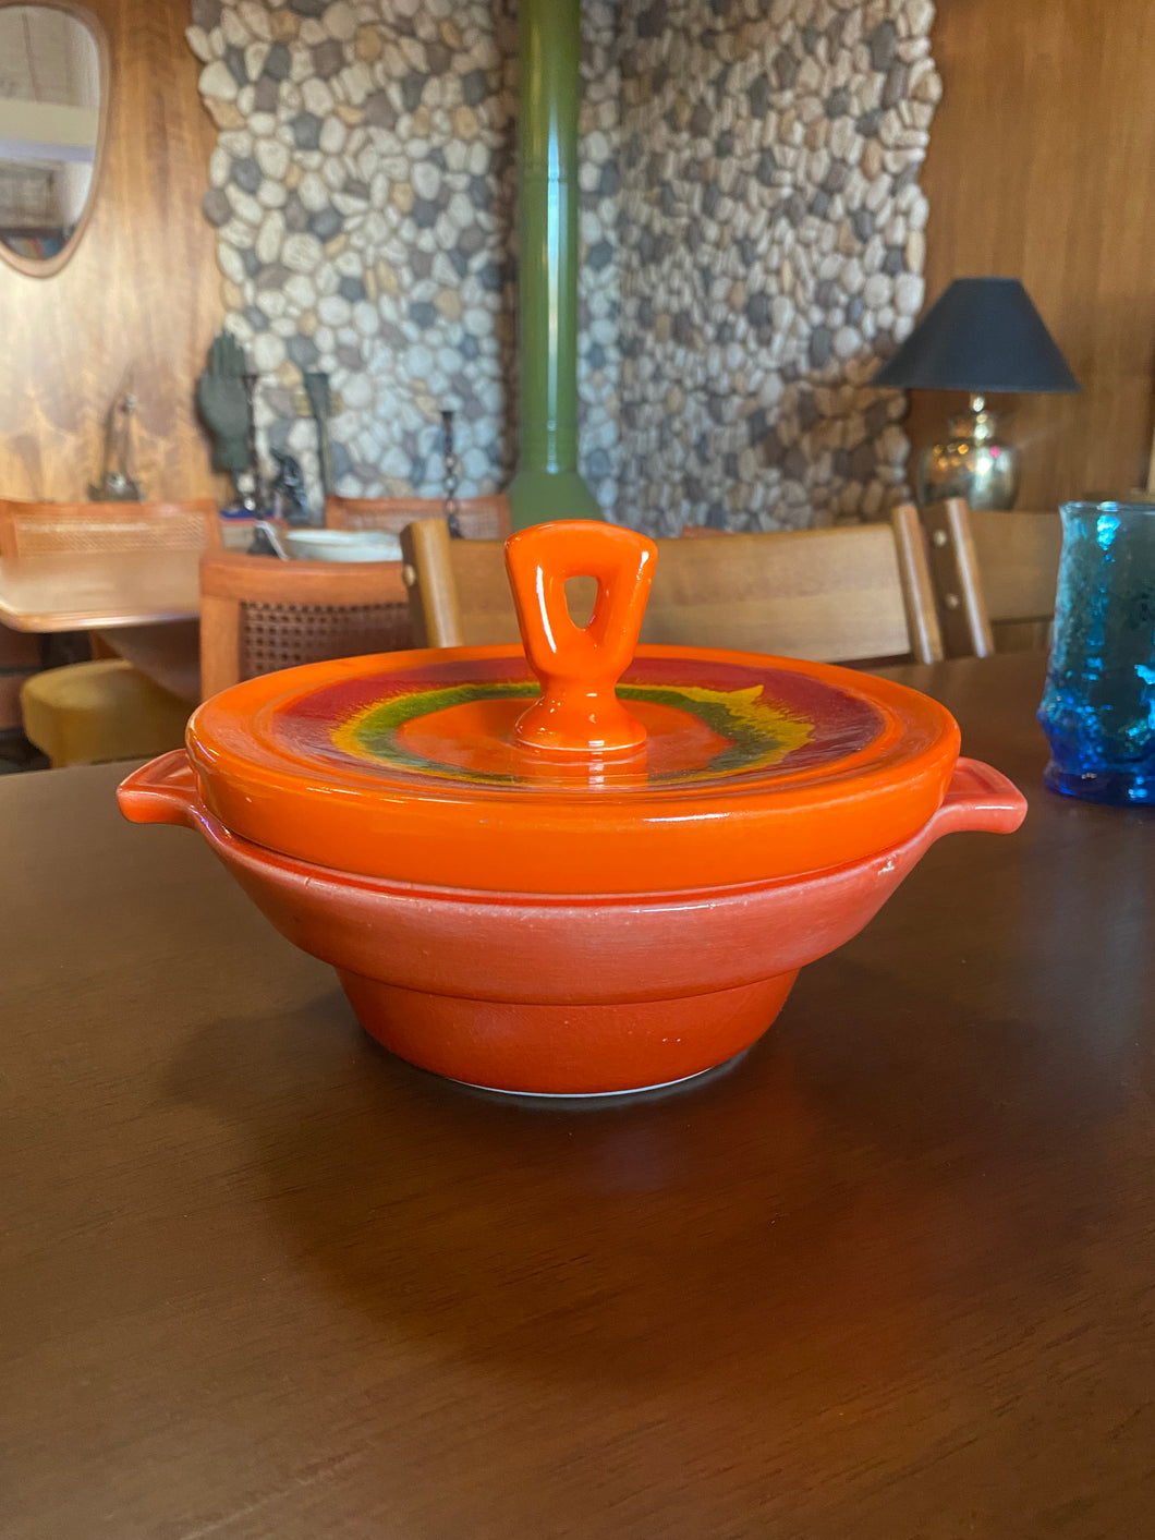
{"type": "Polygon", "coordinates": [[[92,211],[108,122],[108,43],[68,0],[0,0],[0,257],[59,273],[92,211]]]}

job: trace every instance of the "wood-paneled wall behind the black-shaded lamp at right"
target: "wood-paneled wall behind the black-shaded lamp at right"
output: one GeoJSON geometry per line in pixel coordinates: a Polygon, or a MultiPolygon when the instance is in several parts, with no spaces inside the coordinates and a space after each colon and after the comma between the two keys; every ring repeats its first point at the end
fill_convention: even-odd
{"type": "MultiPolygon", "coordinates": [[[[1143,485],[1155,396],[1155,3],[939,0],[927,299],[1019,277],[1081,396],[996,397],[1023,508],[1143,485]]],[[[915,445],[961,397],[912,396],[915,445]]]]}

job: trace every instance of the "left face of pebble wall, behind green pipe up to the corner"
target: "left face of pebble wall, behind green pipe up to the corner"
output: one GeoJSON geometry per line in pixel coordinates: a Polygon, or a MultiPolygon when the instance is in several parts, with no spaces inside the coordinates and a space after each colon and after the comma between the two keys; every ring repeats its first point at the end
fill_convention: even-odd
{"type": "MultiPolygon", "coordinates": [[[[219,128],[205,217],[226,325],[262,376],[263,444],[319,505],[300,371],[331,376],[337,490],[464,496],[513,473],[513,0],[192,0],[219,128]]],[[[618,496],[616,6],[582,17],[582,470],[618,496]]]]}

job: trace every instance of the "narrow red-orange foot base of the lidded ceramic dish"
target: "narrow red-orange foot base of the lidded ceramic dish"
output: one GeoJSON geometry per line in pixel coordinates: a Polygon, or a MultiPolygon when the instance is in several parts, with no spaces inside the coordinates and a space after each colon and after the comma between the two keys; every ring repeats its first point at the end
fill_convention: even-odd
{"type": "Polygon", "coordinates": [[[596,1096],[724,1064],[772,1024],[796,973],[681,999],[593,1006],[462,999],[339,976],[370,1036],[411,1064],[487,1090],[596,1096]]]}

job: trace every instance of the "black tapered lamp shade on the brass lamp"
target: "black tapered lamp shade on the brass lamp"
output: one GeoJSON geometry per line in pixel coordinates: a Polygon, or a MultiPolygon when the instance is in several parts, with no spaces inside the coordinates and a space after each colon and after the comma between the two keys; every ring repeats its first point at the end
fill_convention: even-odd
{"type": "Polygon", "coordinates": [[[1080,388],[1018,279],[955,279],[872,385],[972,394],[1080,388]]]}

